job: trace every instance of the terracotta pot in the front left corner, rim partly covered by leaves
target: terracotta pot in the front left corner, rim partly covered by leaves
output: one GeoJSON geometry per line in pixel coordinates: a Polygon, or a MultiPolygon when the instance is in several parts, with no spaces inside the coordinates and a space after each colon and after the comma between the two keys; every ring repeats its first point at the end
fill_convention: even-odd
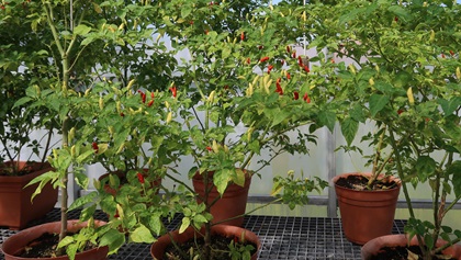
{"type": "MultiPolygon", "coordinates": [[[[95,225],[105,225],[104,222],[94,222],[95,225]]],[[[87,223],[80,223],[79,221],[68,221],[68,230],[70,233],[76,233],[80,230],[82,227],[87,226],[87,223]]],[[[14,257],[14,255],[21,252],[25,246],[27,246],[32,240],[38,238],[45,233],[59,233],[60,230],[60,222],[53,222],[47,223],[38,226],[34,226],[27,229],[24,229],[10,238],[8,238],[3,245],[2,250],[4,253],[5,260],[24,260],[24,259],[34,259],[34,258],[20,258],[14,257]]],[[[76,255],[75,260],[103,260],[106,259],[109,252],[108,247],[94,248],[88,251],[79,252],[76,255]]],[[[40,260],[69,260],[67,256],[58,257],[58,258],[38,258],[40,260]]]]}

